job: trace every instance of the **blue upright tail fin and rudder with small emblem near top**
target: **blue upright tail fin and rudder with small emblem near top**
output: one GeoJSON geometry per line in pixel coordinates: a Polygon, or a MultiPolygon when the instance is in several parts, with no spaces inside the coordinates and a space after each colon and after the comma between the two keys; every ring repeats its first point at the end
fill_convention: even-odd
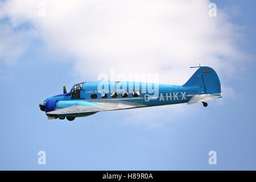
{"type": "Polygon", "coordinates": [[[202,89],[202,93],[221,93],[218,75],[214,69],[210,67],[199,67],[183,86],[199,87],[202,89]]]}

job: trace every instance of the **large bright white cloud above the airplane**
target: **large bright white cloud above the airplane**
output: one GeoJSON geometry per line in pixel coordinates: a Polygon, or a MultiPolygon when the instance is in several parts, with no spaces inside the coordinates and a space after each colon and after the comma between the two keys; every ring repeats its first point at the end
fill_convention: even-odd
{"type": "Polygon", "coordinates": [[[183,84],[194,72],[188,67],[199,62],[230,72],[246,59],[236,46],[237,27],[220,9],[216,18],[209,17],[208,5],[197,0],[12,0],[1,12],[14,25],[34,24],[48,48],[75,56],[82,77],[96,79],[115,68],[159,73],[160,82],[183,84]],[[46,16],[38,16],[42,4],[46,16]]]}

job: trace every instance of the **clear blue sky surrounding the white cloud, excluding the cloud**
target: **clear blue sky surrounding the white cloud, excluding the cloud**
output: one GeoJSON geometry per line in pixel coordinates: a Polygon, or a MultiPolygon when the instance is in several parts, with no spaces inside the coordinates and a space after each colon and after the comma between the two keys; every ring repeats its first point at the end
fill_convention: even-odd
{"type": "MultiPolygon", "coordinates": [[[[210,101],[207,108],[189,105],[179,115],[160,113],[146,122],[140,122],[143,115],[139,115],[134,123],[123,120],[133,110],[97,113],[75,122],[47,120],[38,104],[61,93],[63,84],[70,89],[85,81],[73,71],[75,58],[47,51],[42,40],[32,39],[17,64],[0,61],[0,169],[255,170],[256,2],[216,3],[220,8],[239,9],[230,18],[244,28],[241,47],[251,59],[232,78],[220,75],[234,96],[224,94],[221,104],[210,101]],[[196,112],[189,111],[191,107],[196,112]],[[46,151],[46,165],[38,164],[40,150],[46,151]],[[217,165],[208,164],[211,150],[217,152],[217,165]]],[[[91,80],[93,76],[87,81],[91,80]]],[[[175,105],[161,107],[172,110],[175,105]]],[[[154,107],[138,110],[145,113],[154,107]]]]}

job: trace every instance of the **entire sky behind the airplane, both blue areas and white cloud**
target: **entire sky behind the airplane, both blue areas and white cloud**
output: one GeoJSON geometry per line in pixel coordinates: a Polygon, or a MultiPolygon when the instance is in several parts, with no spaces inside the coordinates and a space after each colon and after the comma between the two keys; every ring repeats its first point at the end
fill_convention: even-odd
{"type": "Polygon", "coordinates": [[[255,170],[256,3],[211,2],[216,17],[209,1],[0,1],[0,169],[255,170]],[[181,85],[199,63],[215,69],[223,91],[206,108],[106,111],[69,122],[48,120],[38,107],[63,84],[69,90],[111,69],[181,85]]]}

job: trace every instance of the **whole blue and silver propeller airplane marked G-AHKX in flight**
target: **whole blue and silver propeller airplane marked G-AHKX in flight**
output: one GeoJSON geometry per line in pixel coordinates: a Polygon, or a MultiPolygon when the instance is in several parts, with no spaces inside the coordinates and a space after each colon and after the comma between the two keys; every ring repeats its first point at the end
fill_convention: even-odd
{"type": "Polygon", "coordinates": [[[198,68],[184,85],[152,84],[147,82],[102,81],[82,82],[67,93],[49,97],[39,104],[48,119],[73,121],[99,111],[134,109],[170,104],[203,103],[221,98],[221,85],[217,73],[210,67],[198,68]]]}

